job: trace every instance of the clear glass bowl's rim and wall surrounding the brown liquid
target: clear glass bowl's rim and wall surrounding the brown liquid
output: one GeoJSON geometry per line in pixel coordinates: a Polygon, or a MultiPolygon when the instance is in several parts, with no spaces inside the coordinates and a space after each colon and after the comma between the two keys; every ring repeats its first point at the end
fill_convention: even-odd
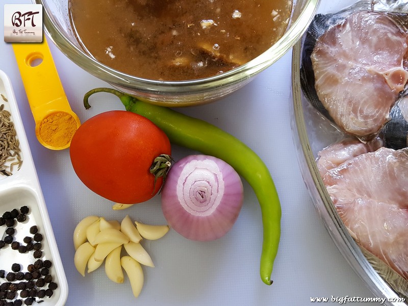
{"type": "Polygon", "coordinates": [[[259,57],[225,73],[191,81],[152,81],[112,69],[87,55],[75,39],[68,17],[68,0],[32,0],[43,6],[46,34],[71,61],[113,87],[152,103],[188,106],[209,103],[247,84],[254,75],[281,58],[302,36],[320,0],[294,0],[288,29],[259,57]]]}

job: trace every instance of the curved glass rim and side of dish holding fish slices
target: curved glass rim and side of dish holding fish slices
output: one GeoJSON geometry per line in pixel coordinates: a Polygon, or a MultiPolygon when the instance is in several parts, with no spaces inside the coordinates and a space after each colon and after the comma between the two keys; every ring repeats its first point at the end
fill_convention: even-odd
{"type": "MultiPolygon", "coordinates": [[[[353,0],[348,1],[349,4],[353,0]]],[[[346,4],[339,4],[343,9],[346,4]]],[[[367,1],[367,5],[370,5],[367,1]]],[[[318,13],[327,13],[322,5],[318,13]]],[[[335,12],[338,10],[329,10],[335,12]]],[[[305,185],[318,215],[343,257],[370,291],[385,299],[385,305],[406,305],[408,283],[373,254],[360,247],[344,225],[321,179],[316,159],[319,150],[345,137],[333,124],[323,118],[304,96],[300,85],[301,54],[305,35],[294,45],[292,52],[292,98],[290,107],[293,140],[305,185]]]]}

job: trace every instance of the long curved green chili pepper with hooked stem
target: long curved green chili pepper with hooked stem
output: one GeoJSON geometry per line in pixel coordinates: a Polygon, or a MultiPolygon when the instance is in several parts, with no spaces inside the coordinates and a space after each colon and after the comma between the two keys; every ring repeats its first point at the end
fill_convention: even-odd
{"type": "Polygon", "coordinates": [[[218,127],[170,108],[152,105],[111,88],[96,88],[85,94],[85,108],[90,108],[88,98],[95,92],[117,95],[127,111],[142,115],[160,127],[170,142],[202,154],[211,155],[230,164],[252,187],[262,211],[263,247],[260,274],[270,285],[273,262],[281,237],[281,205],[271,174],[261,158],[247,145],[218,127]]]}

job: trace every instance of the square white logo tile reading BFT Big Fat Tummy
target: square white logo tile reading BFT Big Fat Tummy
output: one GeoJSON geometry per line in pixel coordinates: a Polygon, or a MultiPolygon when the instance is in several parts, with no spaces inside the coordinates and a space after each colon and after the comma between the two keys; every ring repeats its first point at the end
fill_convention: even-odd
{"type": "Polygon", "coordinates": [[[4,5],[5,42],[42,42],[42,5],[4,5]]]}

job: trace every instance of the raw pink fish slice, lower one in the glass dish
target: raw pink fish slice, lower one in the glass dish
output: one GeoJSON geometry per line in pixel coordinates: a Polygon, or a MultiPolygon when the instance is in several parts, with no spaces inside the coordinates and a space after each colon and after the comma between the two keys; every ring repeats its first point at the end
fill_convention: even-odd
{"type": "MultiPolygon", "coordinates": [[[[326,152],[336,154],[335,149],[326,152]]],[[[351,236],[408,279],[408,148],[381,147],[322,174],[351,236]]]]}

